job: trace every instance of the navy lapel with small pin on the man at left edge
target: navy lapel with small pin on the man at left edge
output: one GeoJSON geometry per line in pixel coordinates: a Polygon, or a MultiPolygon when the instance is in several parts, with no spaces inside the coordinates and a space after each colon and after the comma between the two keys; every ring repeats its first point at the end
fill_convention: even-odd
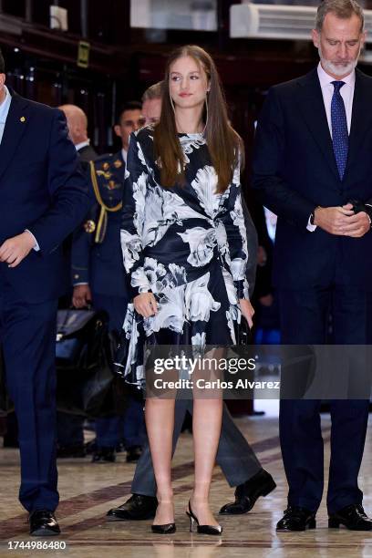
{"type": "Polygon", "coordinates": [[[3,139],[0,144],[0,179],[13,159],[15,150],[25,133],[28,118],[26,99],[19,97],[10,90],[12,102],[5,122],[3,139]]]}

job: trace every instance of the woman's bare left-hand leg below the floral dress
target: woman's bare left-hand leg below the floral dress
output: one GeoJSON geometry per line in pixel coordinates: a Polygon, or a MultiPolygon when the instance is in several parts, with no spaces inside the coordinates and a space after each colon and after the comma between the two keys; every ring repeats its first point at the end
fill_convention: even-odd
{"type": "Polygon", "coordinates": [[[145,419],[159,501],[153,524],[164,525],[174,522],[173,490],[171,488],[174,398],[146,399],[145,419]]]}

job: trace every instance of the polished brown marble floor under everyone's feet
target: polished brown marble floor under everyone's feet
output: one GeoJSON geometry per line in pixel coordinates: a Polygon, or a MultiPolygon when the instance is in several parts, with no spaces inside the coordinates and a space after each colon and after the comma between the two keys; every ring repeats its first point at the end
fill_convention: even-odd
{"type": "MultiPolygon", "coordinates": [[[[66,550],[10,550],[9,542],[36,541],[27,535],[26,513],[17,503],[18,454],[0,449],[0,556],[68,556],[82,558],[236,558],[333,556],[347,558],[372,556],[372,533],[328,530],[325,505],[317,514],[317,529],[303,533],[275,533],[275,523],[285,507],[286,482],[279,448],[277,418],[239,418],[245,437],[277,482],[277,489],[257,501],[253,511],[243,516],[221,518],[221,538],[191,534],[184,506],[192,486],[191,435],[182,434],[174,458],[173,479],[176,494],[177,532],[153,535],[149,522],[105,522],[109,508],[129,495],[134,465],[119,454],[116,463],[92,464],[88,458],[59,460],[61,502],[57,518],[63,530],[53,541],[66,542],[66,550]]],[[[322,418],[325,437],[325,463],[329,458],[330,421],[322,418]]],[[[372,424],[360,475],[365,492],[365,508],[372,514],[372,424]]],[[[326,467],[326,465],[325,465],[326,467]]],[[[325,473],[326,474],[326,473],[325,473]]],[[[231,501],[233,491],[215,468],[212,507],[231,501]]],[[[40,540],[40,539],[39,539],[40,540]]],[[[44,539],[50,542],[49,539],[44,539]]]]}

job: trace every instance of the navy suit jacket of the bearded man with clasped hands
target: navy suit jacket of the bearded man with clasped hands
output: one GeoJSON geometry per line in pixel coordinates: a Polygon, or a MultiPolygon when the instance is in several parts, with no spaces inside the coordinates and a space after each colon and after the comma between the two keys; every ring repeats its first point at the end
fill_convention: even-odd
{"type": "Polygon", "coordinates": [[[306,230],[317,205],[372,199],[372,78],[356,70],[346,172],[340,180],[316,69],[271,88],[256,133],[253,188],[278,215],[274,285],[372,289],[372,233],[306,230]]]}

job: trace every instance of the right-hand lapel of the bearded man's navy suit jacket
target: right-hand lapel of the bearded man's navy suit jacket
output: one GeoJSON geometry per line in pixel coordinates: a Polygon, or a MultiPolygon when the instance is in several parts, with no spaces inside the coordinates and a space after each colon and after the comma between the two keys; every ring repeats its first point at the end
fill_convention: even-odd
{"type": "Polygon", "coordinates": [[[353,111],[349,136],[345,176],[350,164],[355,160],[359,144],[365,138],[365,133],[372,126],[371,111],[372,80],[356,69],[356,86],[354,89],[353,111]]]}

